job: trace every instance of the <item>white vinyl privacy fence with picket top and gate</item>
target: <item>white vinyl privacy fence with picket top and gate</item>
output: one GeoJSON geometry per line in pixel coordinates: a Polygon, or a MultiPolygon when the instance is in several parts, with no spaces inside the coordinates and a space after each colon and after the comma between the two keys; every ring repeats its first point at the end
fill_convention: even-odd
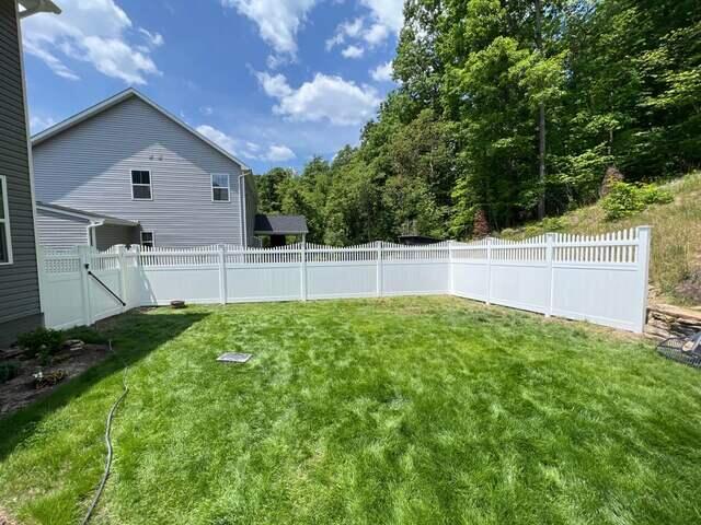
{"type": "Polygon", "coordinates": [[[650,228],[427,246],[116,246],[41,250],[46,325],[67,328],[137,306],[451,294],[642,331],[650,228]]]}

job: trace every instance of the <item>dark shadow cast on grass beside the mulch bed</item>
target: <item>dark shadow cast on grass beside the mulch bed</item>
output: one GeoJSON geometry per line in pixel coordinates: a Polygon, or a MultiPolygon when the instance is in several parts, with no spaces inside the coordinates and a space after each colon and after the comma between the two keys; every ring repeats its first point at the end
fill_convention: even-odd
{"type": "Polygon", "coordinates": [[[101,331],[112,339],[115,355],[62,384],[36,402],[0,418],[0,460],[31,439],[34,429],[46,416],[80,397],[105,377],[120,373],[125,364],[131,366],[137,363],[207,315],[187,312],[148,315],[133,311],[103,322],[101,331]]]}

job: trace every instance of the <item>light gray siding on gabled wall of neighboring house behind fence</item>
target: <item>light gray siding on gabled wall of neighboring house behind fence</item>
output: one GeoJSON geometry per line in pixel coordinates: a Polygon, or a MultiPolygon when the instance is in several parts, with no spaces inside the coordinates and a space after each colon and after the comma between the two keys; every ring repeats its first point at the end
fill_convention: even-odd
{"type": "Polygon", "coordinates": [[[240,166],[136,96],[37,144],[34,173],[37,200],[140,222],[157,246],[241,244],[240,166]],[[153,200],[131,198],[131,170],[151,172],[153,200]]]}

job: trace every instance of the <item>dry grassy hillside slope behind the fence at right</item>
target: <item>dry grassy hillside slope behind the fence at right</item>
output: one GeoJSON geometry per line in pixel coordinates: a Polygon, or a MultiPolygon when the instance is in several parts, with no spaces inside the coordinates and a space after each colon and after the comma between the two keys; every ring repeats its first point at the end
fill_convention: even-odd
{"type": "Polygon", "coordinates": [[[674,195],[667,205],[653,205],[628,219],[607,221],[599,203],[559,218],[502,231],[504,238],[524,238],[544,232],[583,235],[647,224],[653,226],[651,293],[671,304],[701,305],[701,172],[665,184],[674,195]]]}

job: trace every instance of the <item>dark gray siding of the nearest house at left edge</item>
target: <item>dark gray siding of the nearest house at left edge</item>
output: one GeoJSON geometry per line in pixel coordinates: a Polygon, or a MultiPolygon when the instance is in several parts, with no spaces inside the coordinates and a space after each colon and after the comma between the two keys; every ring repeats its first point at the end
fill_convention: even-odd
{"type": "Polygon", "coordinates": [[[0,345],[41,323],[34,210],[16,8],[0,0],[0,175],[8,183],[12,265],[0,265],[0,345]]]}

